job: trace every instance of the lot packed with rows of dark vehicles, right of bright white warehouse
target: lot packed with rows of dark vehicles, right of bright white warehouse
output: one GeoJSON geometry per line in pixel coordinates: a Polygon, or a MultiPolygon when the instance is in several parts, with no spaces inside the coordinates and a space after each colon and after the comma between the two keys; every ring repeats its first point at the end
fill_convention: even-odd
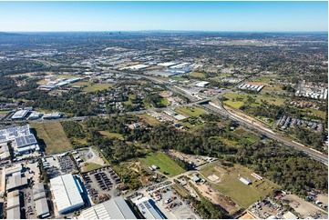
{"type": "Polygon", "coordinates": [[[82,178],[93,204],[107,201],[120,194],[116,186],[121,184],[121,180],[108,166],[84,173],[82,178]]]}

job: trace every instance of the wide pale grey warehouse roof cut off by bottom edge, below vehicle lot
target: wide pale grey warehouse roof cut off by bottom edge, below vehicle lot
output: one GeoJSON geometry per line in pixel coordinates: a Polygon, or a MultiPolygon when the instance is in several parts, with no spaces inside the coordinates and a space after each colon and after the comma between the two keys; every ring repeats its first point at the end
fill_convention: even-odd
{"type": "Polygon", "coordinates": [[[136,219],[122,196],[94,205],[81,212],[82,219],[136,219]]]}

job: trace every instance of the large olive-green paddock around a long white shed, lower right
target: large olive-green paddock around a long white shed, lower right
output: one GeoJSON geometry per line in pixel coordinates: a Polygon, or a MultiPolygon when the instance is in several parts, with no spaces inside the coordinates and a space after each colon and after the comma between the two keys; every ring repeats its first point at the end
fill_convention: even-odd
{"type": "Polygon", "coordinates": [[[220,182],[209,182],[211,186],[222,194],[231,197],[235,203],[243,208],[252,205],[262,196],[266,196],[272,193],[274,189],[279,188],[279,185],[275,185],[267,179],[255,182],[256,179],[252,177],[252,173],[252,170],[242,165],[234,165],[233,167],[223,169],[221,165],[213,164],[205,166],[200,170],[200,174],[206,178],[209,175],[219,176],[221,178],[220,182]],[[253,182],[252,185],[244,185],[239,180],[242,176],[250,178],[253,182]]]}

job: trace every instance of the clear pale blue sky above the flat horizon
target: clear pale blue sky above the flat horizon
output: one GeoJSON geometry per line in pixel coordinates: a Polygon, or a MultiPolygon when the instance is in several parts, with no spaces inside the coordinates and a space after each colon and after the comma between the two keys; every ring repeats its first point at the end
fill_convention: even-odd
{"type": "Polygon", "coordinates": [[[327,31],[327,2],[0,2],[0,31],[327,31]]]}

